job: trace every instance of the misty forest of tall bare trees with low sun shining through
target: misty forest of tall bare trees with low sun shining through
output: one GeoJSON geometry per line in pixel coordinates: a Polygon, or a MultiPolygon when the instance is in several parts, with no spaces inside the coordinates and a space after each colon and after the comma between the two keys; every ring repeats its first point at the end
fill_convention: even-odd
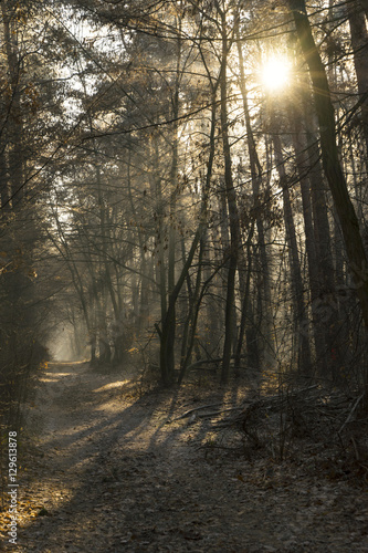
{"type": "Polygon", "coordinates": [[[225,428],[256,449],[277,413],[278,460],[295,427],[334,435],[367,486],[367,0],[0,2],[2,487],[57,362],[167,397],[199,378],[202,403],[252,380],[225,428]]]}

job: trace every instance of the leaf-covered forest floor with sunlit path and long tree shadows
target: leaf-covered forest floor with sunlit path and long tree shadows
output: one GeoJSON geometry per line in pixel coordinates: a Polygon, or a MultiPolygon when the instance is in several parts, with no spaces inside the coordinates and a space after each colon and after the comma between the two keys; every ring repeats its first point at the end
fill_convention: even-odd
{"type": "Polygon", "coordinates": [[[330,472],[328,457],[316,463],[313,442],[276,462],[246,453],[236,429],[213,426],[219,416],[179,418],[249,394],[206,378],[145,390],[117,372],[50,364],[19,436],[18,544],[4,511],[3,550],[367,552],[367,487],[330,472]]]}

